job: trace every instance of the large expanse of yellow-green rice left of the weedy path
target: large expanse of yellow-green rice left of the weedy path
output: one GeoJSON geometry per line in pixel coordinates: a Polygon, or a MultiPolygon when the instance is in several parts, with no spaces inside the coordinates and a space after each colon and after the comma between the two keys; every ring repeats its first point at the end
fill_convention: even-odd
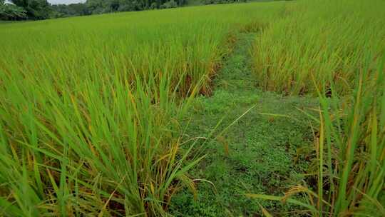
{"type": "Polygon", "coordinates": [[[180,119],[257,8],[1,24],[0,216],[166,216],[199,159],[180,119]]]}

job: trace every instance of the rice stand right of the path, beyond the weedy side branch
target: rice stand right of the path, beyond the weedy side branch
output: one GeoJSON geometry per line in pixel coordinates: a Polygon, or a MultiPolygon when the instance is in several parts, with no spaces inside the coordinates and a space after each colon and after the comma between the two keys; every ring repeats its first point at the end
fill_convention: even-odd
{"type": "Polygon", "coordinates": [[[255,39],[260,87],[316,95],[317,88],[334,81],[335,91],[350,94],[364,55],[385,49],[385,29],[379,27],[385,26],[384,6],[377,0],[289,2],[282,19],[255,39]]]}

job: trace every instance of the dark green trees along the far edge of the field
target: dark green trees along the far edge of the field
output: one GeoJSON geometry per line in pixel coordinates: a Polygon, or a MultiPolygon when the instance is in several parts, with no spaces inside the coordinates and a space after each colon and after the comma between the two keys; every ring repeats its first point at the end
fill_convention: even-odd
{"type": "MultiPolygon", "coordinates": [[[[105,14],[118,11],[170,9],[185,6],[188,0],[87,0],[78,4],[53,4],[47,0],[0,0],[0,20],[39,20],[68,16],[105,14]]],[[[201,0],[202,4],[225,4],[246,0],[201,0]]]]}

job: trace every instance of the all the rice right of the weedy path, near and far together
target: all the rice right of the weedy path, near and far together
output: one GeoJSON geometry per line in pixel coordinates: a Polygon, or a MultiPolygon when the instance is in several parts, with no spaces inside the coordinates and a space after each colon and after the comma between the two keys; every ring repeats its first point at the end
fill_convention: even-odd
{"type": "Polygon", "coordinates": [[[321,105],[306,183],[285,196],[249,197],[297,204],[310,216],[385,216],[384,6],[293,1],[257,37],[258,84],[315,94],[321,105]],[[290,198],[297,194],[304,200],[290,198]]]}

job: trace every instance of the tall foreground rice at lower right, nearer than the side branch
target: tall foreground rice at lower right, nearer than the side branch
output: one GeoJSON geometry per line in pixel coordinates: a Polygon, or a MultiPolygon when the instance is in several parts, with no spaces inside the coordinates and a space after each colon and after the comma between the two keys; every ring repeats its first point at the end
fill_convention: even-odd
{"type": "Polygon", "coordinates": [[[293,203],[310,216],[385,215],[379,202],[385,187],[385,54],[377,66],[372,58],[362,60],[351,95],[336,94],[332,81],[318,90],[319,133],[311,155],[317,168],[307,175],[316,184],[294,186],[284,196],[247,196],[293,203]],[[326,97],[329,88],[333,94],[326,97]],[[297,194],[302,196],[292,198],[297,194]]]}

